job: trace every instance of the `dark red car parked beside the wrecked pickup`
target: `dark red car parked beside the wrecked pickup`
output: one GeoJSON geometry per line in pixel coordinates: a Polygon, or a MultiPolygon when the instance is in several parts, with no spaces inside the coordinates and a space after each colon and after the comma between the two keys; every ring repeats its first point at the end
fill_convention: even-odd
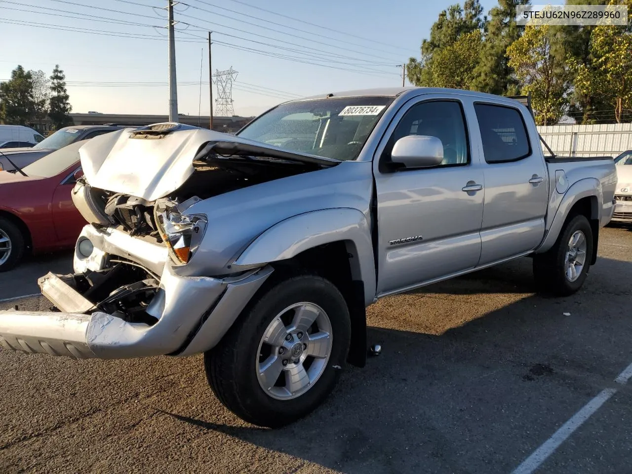
{"type": "Polygon", "coordinates": [[[0,171],[0,272],[15,267],[27,252],[72,248],[85,219],[70,192],[81,169],[77,142],[24,167],[0,171]]]}

